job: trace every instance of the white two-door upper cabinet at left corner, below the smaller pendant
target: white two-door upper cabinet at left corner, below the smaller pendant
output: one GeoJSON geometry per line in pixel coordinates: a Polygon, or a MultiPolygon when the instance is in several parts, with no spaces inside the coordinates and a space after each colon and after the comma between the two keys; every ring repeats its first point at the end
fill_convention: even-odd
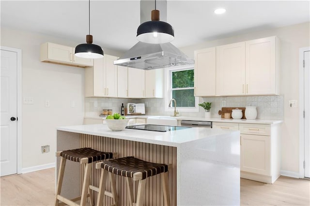
{"type": "Polygon", "coordinates": [[[86,97],[117,97],[117,57],[104,55],[94,59],[93,67],[85,69],[86,97]]]}

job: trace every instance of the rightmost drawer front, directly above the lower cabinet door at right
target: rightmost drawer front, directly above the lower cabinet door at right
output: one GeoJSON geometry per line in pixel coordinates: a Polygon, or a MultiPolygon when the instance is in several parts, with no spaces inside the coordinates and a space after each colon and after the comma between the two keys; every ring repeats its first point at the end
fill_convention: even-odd
{"type": "Polygon", "coordinates": [[[269,124],[239,124],[241,134],[256,134],[270,136],[269,124]]]}

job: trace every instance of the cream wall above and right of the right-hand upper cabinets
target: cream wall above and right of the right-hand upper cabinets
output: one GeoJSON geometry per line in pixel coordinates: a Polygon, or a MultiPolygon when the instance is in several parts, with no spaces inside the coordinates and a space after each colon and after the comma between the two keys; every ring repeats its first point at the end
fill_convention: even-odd
{"type": "Polygon", "coordinates": [[[246,40],[258,39],[268,36],[278,36],[281,44],[280,54],[280,95],[284,96],[284,123],[281,125],[281,171],[282,174],[299,176],[299,108],[289,108],[289,100],[298,100],[299,74],[298,55],[299,48],[310,46],[310,23],[297,24],[277,29],[268,29],[233,36],[215,41],[202,42],[181,48],[191,58],[194,50],[246,40]]]}

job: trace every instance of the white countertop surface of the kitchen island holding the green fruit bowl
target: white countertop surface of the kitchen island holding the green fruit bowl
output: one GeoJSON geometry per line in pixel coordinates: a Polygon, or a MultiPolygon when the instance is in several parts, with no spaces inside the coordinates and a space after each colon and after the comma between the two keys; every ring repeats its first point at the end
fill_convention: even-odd
{"type": "Polygon", "coordinates": [[[207,137],[214,137],[222,134],[230,134],[232,131],[209,129],[209,128],[188,128],[169,132],[155,132],[135,129],[125,129],[113,132],[106,124],[90,124],[57,127],[59,131],[105,136],[117,139],[138,141],[157,145],[177,147],[182,143],[191,142],[207,137]]]}

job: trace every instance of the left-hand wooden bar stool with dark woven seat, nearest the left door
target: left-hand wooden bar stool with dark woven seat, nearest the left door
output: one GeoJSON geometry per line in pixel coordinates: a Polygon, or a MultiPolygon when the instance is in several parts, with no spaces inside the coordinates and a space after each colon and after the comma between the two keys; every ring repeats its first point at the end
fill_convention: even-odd
{"type": "Polygon", "coordinates": [[[90,197],[90,204],[93,206],[93,195],[91,194],[90,189],[99,191],[99,188],[96,188],[90,185],[92,163],[96,161],[111,159],[115,155],[117,155],[117,153],[101,152],[101,151],[97,151],[89,147],[56,152],[56,157],[61,157],[61,161],[60,161],[60,167],[59,167],[59,173],[58,173],[58,179],[57,179],[55,206],[60,206],[60,205],[78,206],[78,204],[75,203],[75,201],[78,201],[78,200],[80,200],[80,206],[85,206],[87,197],[90,197]],[[63,180],[66,160],[70,160],[73,162],[79,162],[80,164],[85,165],[81,196],[71,199],[71,200],[60,195],[61,190],[62,190],[62,180],[63,180]],[[59,201],[62,201],[62,203],[59,203],[59,201]]]}

